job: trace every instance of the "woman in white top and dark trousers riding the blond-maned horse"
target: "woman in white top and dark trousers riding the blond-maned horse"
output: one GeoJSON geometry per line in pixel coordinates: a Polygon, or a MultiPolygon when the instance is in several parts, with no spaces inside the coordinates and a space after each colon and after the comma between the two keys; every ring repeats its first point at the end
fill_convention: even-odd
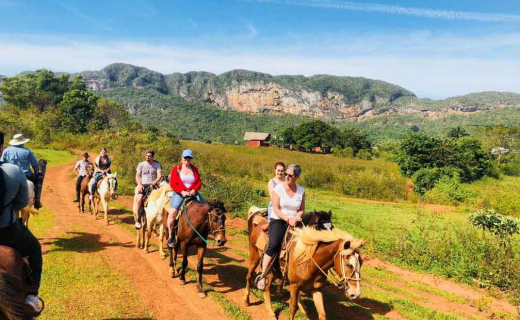
{"type": "Polygon", "coordinates": [[[285,232],[289,226],[294,227],[301,221],[305,210],[305,189],[296,184],[302,173],[302,168],[297,164],[287,167],[285,181],[278,184],[271,195],[273,212],[269,222],[269,245],[262,261],[262,277],[258,281],[258,289],[265,289],[265,276],[271,260],[278,254],[282,247],[285,232]]]}

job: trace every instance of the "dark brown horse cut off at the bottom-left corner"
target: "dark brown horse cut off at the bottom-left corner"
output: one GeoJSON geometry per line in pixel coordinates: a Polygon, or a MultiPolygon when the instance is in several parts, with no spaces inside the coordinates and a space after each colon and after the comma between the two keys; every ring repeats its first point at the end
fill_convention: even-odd
{"type": "Polygon", "coordinates": [[[16,250],[0,246],[0,320],[33,319],[25,306],[27,276],[24,260],[16,250]]]}

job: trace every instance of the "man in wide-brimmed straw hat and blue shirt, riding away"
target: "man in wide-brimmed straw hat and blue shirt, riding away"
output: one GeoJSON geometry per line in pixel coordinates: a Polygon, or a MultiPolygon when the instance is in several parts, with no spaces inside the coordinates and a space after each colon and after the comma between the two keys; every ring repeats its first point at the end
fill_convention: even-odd
{"type": "Polygon", "coordinates": [[[37,190],[38,184],[36,183],[36,174],[40,171],[40,165],[34,153],[24,147],[24,144],[29,142],[30,139],[25,139],[21,133],[15,134],[13,139],[9,141],[10,147],[7,147],[2,153],[3,162],[8,162],[12,164],[16,164],[19,166],[22,171],[25,173],[27,180],[31,180],[35,185],[35,199],[34,199],[34,207],[36,209],[40,209],[42,207],[40,203],[40,191],[37,190]],[[34,170],[34,173],[31,171],[31,167],[34,170]]]}

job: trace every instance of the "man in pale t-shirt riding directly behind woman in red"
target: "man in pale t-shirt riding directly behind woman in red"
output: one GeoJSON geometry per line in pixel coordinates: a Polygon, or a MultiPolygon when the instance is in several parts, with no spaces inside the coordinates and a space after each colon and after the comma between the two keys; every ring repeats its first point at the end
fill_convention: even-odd
{"type": "Polygon", "coordinates": [[[155,161],[153,157],[155,156],[155,151],[147,150],[146,151],[146,160],[139,163],[137,165],[137,172],[135,174],[135,182],[137,182],[138,193],[136,195],[137,206],[134,210],[134,217],[137,217],[137,221],[135,222],[135,228],[141,229],[141,204],[145,201],[146,189],[148,187],[155,188],[159,181],[162,179],[162,168],[159,162],[155,161]]]}

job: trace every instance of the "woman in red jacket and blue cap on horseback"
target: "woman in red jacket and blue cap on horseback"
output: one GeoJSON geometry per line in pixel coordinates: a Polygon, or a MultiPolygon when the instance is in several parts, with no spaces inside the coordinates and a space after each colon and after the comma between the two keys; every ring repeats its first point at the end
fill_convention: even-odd
{"type": "Polygon", "coordinates": [[[200,181],[199,170],[191,164],[193,159],[193,151],[186,149],[182,152],[182,161],[178,166],[172,168],[170,175],[170,186],[173,189],[173,195],[170,202],[170,210],[168,212],[168,246],[175,246],[175,223],[177,213],[182,206],[184,198],[193,197],[198,202],[205,202],[204,198],[198,192],[202,186],[200,181]]]}

